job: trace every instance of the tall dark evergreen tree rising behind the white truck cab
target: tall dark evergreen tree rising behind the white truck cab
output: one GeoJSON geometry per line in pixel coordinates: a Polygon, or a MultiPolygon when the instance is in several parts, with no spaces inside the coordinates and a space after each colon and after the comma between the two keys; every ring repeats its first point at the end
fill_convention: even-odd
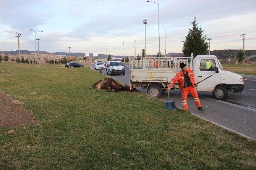
{"type": "Polygon", "coordinates": [[[197,55],[207,54],[209,45],[206,42],[206,35],[203,36],[203,31],[201,26],[198,27],[196,23],[196,16],[194,16],[194,21],[191,22],[193,25],[192,29],[189,29],[188,35],[186,35],[185,41],[183,41],[182,52],[184,56],[190,57],[193,53],[193,58],[197,55]]]}

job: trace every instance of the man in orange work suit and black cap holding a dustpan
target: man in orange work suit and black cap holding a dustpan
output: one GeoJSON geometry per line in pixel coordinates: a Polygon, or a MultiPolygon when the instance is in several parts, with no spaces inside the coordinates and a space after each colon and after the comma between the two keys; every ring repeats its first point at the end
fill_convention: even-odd
{"type": "Polygon", "coordinates": [[[180,87],[181,96],[182,96],[182,106],[183,109],[188,111],[188,104],[187,104],[187,96],[188,92],[193,96],[194,101],[198,110],[204,111],[201,106],[200,100],[198,98],[198,94],[196,92],[196,88],[194,87],[195,80],[194,80],[194,73],[191,69],[187,68],[185,63],[180,63],[181,71],[177,72],[175,77],[171,80],[167,91],[173,86],[173,83],[178,82],[178,86],[180,87]]]}

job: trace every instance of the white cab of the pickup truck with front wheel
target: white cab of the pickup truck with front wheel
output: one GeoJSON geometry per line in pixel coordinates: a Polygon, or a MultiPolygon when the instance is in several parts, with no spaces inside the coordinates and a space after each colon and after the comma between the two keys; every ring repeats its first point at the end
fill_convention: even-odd
{"type": "Polygon", "coordinates": [[[243,77],[230,71],[225,71],[219,59],[214,55],[198,55],[193,59],[192,70],[198,83],[197,91],[212,91],[214,98],[224,100],[228,91],[241,93],[245,87],[243,77]]]}

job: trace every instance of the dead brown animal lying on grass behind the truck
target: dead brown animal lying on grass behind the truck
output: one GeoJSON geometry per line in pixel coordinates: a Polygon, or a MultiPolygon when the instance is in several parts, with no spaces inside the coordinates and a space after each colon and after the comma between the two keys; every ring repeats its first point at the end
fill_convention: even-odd
{"type": "Polygon", "coordinates": [[[130,90],[130,87],[127,87],[127,86],[123,87],[122,85],[117,83],[114,79],[111,79],[109,77],[94,83],[94,85],[91,88],[111,90],[113,92],[130,90]]]}

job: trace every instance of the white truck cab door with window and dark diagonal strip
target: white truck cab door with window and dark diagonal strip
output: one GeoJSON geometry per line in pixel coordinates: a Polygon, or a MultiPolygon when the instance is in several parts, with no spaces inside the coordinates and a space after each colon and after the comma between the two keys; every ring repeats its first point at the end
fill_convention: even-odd
{"type": "Polygon", "coordinates": [[[197,91],[212,91],[216,83],[220,82],[220,73],[215,72],[217,62],[214,58],[200,58],[200,60],[198,74],[197,77],[195,77],[195,79],[197,79],[196,82],[200,82],[210,75],[212,76],[199,83],[197,85],[197,91]]]}

